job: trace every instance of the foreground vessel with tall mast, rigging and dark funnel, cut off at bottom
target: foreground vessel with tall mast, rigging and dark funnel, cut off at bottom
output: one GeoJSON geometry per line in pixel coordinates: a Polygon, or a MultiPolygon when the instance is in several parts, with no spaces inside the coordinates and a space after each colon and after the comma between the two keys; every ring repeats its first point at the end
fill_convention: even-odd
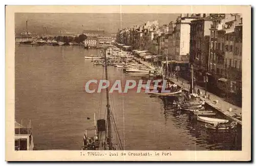
{"type": "MultiPolygon", "coordinates": [[[[104,51],[104,67],[105,67],[105,79],[108,81],[108,62],[106,58],[106,50],[104,51]]],[[[110,54],[110,53],[109,53],[110,54]]],[[[95,115],[94,115],[95,119],[95,115]]],[[[83,137],[83,146],[82,150],[123,150],[122,142],[119,136],[117,129],[117,124],[115,122],[114,115],[110,107],[110,98],[109,98],[109,88],[106,88],[106,120],[99,119],[97,120],[97,129],[96,129],[96,120],[94,120],[94,129],[95,135],[89,137],[86,133],[83,137]],[[113,126],[112,126],[113,125],[113,126]],[[112,127],[116,135],[116,143],[113,140],[112,127]]]]}

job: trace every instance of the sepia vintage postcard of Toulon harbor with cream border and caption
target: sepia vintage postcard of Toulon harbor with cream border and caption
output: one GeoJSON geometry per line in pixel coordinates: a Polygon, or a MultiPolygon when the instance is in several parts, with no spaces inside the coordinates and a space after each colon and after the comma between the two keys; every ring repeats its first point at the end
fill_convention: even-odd
{"type": "Polygon", "coordinates": [[[249,161],[250,91],[251,6],[6,6],[7,161],[249,161]]]}

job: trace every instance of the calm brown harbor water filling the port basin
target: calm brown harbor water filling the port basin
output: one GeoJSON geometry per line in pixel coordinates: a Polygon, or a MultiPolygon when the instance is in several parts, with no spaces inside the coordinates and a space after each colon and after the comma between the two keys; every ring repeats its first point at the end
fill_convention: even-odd
{"type": "MultiPolygon", "coordinates": [[[[102,66],[84,59],[99,54],[80,46],[16,46],[15,119],[24,125],[32,121],[35,150],[80,150],[84,130],[94,127],[94,112],[104,117],[105,91],[87,93],[83,88],[88,80],[104,78],[102,66]]],[[[114,66],[108,71],[112,81],[122,83],[142,77],[114,66]]],[[[216,132],[186,113],[176,117],[174,99],[150,98],[135,90],[110,93],[125,150],[242,149],[241,129],[216,132]]]]}

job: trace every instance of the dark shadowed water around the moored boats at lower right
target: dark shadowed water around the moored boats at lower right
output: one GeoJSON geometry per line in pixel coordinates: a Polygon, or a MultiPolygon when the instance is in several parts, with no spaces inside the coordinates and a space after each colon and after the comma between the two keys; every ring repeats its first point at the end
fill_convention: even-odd
{"type": "MultiPolygon", "coordinates": [[[[159,97],[163,102],[163,115],[166,121],[174,121],[175,127],[185,129],[195,139],[195,144],[208,150],[242,150],[242,129],[237,126],[231,131],[215,131],[205,128],[205,123],[199,122],[195,115],[182,111],[180,115],[174,108],[174,100],[180,97],[159,97]],[[175,117],[175,119],[173,119],[175,117]]],[[[225,118],[218,111],[206,106],[206,110],[212,110],[216,115],[209,117],[225,118]]]]}

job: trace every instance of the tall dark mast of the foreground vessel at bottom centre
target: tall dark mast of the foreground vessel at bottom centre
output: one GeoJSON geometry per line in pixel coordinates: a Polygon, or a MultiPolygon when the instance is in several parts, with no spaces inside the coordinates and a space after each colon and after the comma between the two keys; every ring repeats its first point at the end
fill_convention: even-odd
{"type": "MultiPolygon", "coordinates": [[[[104,59],[105,59],[105,79],[108,81],[108,65],[106,62],[106,49],[104,50],[104,59]]],[[[109,135],[109,150],[112,150],[112,140],[111,140],[111,120],[110,120],[110,101],[109,101],[109,87],[106,87],[106,109],[107,109],[107,123],[108,123],[108,135],[109,135]]]]}

